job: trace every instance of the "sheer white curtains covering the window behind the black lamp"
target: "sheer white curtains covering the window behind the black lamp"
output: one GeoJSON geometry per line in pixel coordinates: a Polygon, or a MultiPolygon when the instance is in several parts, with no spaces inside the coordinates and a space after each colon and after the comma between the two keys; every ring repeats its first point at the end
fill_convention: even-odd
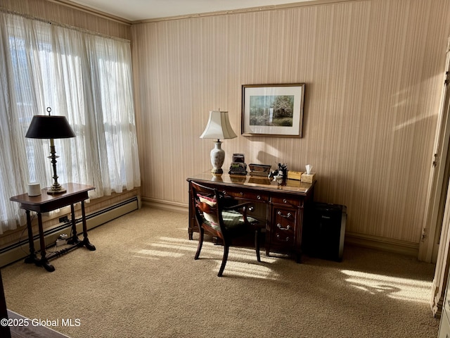
{"type": "Polygon", "coordinates": [[[11,196],[52,184],[49,140],[25,139],[46,107],[77,135],[55,140],[58,182],[139,187],[129,42],[2,12],[0,35],[0,234],[24,222],[11,196]]]}

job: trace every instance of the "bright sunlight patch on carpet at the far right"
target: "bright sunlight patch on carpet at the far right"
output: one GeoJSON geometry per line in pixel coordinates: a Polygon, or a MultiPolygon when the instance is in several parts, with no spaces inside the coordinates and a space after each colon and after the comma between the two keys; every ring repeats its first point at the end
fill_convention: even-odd
{"type": "Polygon", "coordinates": [[[392,299],[429,303],[430,282],[407,278],[361,273],[360,271],[342,270],[346,281],[356,289],[369,294],[380,294],[392,299]]]}

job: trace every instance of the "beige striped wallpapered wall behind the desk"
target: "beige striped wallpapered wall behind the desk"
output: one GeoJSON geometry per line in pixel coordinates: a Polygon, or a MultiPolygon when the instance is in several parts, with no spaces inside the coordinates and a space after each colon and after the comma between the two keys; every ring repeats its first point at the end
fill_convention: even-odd
{"type": "Polygon", "coordinates": [[[347,234],[417,249],[424,219],[449,0],[312,1],[131,26],[143,201],[188,203],[209,170],[208,113],[246,163],[314,165],[316,201],[347,206],[347,234]],[[240,135],[241,86],[304,82],[303,138],[240,135]]]}

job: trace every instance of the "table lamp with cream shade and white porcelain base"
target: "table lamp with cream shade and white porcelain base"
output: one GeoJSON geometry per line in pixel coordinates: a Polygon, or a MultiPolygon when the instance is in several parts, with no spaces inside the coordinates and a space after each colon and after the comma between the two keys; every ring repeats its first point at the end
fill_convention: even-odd
{"type": "Polygon", "coordinates": [[[205,131],[200,136],[200,139],[217,139],[214,142],[214,149],[212,149],[211,173],[214,175],[221,175],[224,173],[222,165],[224,165],[225,151],[221,149],[221,139],[234,139],[237,135],[233,132],[228,118],[228,111],[210,111],[210,119],[206,125],[205,131]]]}

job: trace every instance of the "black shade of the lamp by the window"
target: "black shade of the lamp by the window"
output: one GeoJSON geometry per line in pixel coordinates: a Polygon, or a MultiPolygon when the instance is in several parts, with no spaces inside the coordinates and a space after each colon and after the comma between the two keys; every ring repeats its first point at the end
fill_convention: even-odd
{"type": "Polygon", "coordinates": [[[25,137],[30,139],[67,139],[75,137],[65,116],[34,115],[25,137]]]}

